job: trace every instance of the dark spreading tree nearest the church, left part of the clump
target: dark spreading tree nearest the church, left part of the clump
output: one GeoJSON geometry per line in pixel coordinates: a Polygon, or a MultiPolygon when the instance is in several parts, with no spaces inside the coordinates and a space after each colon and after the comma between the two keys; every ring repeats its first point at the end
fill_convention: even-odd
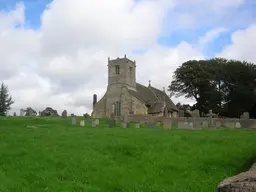
{"type": "Polygon", "coordinates": [[[168,91],[173,92],[177,97],[195,99],[198,109],[207,112],[212,104],[209,103],[211,94],[215,90],[211,79],[212,74],[206,61],[187,61],[174,72],[168,91]]]}

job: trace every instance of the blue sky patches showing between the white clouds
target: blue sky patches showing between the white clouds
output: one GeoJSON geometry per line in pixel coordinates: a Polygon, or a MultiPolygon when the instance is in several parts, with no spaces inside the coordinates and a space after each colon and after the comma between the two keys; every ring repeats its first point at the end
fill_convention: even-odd
{"type": "MultiPolygon", "coordinates": [[[[46,6],[52,0],[24,0],[26,26],[34,29],[40,28],[40,16],[46,9],[46,6]]],[[[0,0],[0,9],[8,11],[13,9],[19,1],[0,0]]],[[[214,57],[224,46],[231,44],[231,33],[248,27],[256,21],[256,1],[247,0],[244,4],[225,10],[224,13],[215,14],[209,10],[202,10],[198,6],[190,4],[181,4],[172,9],[164,20],[163,34],[159,36],[158,43],[163,46],[177,46],[181,41],[186,41],[196,45],[200,37],[208,31],[217,27],[225,27],[228,31],[220,33],[214,41],[209,42],[202,52],[207,57],[214,57]],[[197,14],[198,10],[201,14],[197,14]],[[180,27],[177,19],[180,14],[188,14],[194,20],[193,26],[180,27]],[[202,18],[203,17],[203,18],[202,18]],[[178,26],[178,27],[177,27],[178,26]]],[[[134,53],[140,54],[144,51],[136,50],[134,53]]]]}

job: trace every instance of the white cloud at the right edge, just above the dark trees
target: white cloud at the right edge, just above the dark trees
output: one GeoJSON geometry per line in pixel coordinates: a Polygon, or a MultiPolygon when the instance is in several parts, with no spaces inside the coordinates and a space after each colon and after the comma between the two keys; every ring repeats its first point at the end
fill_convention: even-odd
{"type": "Polygon", "coordinates": [[[252,24],[247,29],[235,31],[231,40],[232,44],[217,54],[218,57],[256,63],[256,24],[252,24]]]}

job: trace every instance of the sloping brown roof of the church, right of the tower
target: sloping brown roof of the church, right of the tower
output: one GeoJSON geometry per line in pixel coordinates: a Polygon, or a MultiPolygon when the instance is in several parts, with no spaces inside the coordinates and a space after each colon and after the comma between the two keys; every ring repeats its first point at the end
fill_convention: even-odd
{"type": "Polygon", "coordinates": [[[144,86],[136,83],[136,91],[129,90],[129,92],[139,100],[143,101],[146,105],[149,105],[149,113],[162,112],[164,107],[164,102],[166,102],[169,111],[178,111],[175,104],[172,102],[170,97],[159,89],[152,86],[144,86]]]}

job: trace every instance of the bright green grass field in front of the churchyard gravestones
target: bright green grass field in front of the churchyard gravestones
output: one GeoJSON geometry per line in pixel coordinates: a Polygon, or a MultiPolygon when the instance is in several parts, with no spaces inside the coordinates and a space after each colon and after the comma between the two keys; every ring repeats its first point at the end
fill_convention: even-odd
{"type": "Polygon", "coordinates": [[[215,192],[255,157],[252,130],[109,129],[74,126],[71,119],[0,118],[0,192],[215,192]]]}

